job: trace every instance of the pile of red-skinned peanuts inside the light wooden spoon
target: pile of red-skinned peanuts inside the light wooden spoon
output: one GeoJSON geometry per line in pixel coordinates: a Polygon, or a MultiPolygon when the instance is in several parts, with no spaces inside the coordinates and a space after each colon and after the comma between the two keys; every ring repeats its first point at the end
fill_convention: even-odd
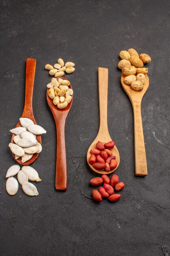
{"type": "Polygon", "coordinates": [[[88,159],[89,164],[93,164],[97,170],[114,170],[117,166],[117,161],[115,160],[116,157],[110,150],[114,148],[114,146],[114,141],[109,141],[104,145],[101,141],[98,141],[96,148],[91,149],[91,156],[88,159]]]}

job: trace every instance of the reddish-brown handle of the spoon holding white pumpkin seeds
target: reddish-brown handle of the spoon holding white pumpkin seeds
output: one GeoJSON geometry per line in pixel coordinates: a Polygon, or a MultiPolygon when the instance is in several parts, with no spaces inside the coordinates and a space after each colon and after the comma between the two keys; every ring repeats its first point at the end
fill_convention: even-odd
{"type": "Polygon", "coordinates": [[[33,58],[26,59],[26,81],[25,81],[25,104],[22,117],[33,117],[33,87],[35,77],[36,60],[33,58]]]}

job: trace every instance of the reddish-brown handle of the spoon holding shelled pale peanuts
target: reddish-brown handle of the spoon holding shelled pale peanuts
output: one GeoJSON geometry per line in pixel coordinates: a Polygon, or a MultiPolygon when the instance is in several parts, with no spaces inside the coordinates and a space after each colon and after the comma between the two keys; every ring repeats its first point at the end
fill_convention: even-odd
{"type": "Polygon", "coordinates": [[[66,166],[66,146],[65,146],[65,127],[66,115],[58,113],[56,121],[57,129],[57,160],[56,160],[56,175],[55,188],[57,190],[67,189],[67,166],[66,166]]]}

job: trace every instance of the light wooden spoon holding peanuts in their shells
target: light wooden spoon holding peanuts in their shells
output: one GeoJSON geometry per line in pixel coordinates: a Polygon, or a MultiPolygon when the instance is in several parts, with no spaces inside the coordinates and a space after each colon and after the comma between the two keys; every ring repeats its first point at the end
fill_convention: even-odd
{"type": "Polygon", "coordinates": [[[149,78],[147,75],[145,75],[146,82],[144,84],[144,89],[142,91],[135,91],[131,88],[130,85],[124,83],[125,76],[126,75],[124,74],[121,75],[121,85],[123,86],[125,92],[130,98],[134,115],[135,174],[137,176],[146,176],[148,174],[148,171],[144,143],[144,132],[141,119],[141,101],[149,87],[149,78]]]}

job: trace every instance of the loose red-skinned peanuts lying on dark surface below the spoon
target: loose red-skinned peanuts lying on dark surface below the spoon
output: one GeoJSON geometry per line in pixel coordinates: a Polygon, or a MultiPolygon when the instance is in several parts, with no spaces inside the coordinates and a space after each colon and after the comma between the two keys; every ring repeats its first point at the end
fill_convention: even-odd
{"type": "Polygon", "coordinates": [[[111,202],[116,202],[121,195],[113,194],[113,187],[115,187],[116,191],[120,191],[125,187],[123,182],[119,182],[117,174],[113,174],[110,179],[106,174],[104,174],[101,177],[91,179],[90,182],[93,186],[99,186],[104,182],[103,187],[100,186],[99,190],[93,189],[92,191],[93,199],[99,202],[102,202],[102,198],[108,198],[111,202]]]}

